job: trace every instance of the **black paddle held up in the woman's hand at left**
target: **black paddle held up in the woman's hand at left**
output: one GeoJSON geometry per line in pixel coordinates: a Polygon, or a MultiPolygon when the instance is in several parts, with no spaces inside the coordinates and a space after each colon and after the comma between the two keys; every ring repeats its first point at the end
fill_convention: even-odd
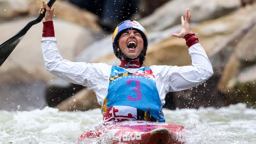
{"type": "MultiPolygon", "coordinates": [[[[56,0],[50,0],[47,5],[52,7],[56,0]]],[[[45,11],[46,12],[46,11],[45,11]]],[[[41,22],[43,17],[45,17],[45,12],[40,14],[35,20],[30,21],[24,28],[22,28],[18,33],[16,33],[11,39],[0,45],[0,66],[4,63],[7,57],[11,54],[14,48],[19,44],[27,31],[35,24],[41,22]]]]}

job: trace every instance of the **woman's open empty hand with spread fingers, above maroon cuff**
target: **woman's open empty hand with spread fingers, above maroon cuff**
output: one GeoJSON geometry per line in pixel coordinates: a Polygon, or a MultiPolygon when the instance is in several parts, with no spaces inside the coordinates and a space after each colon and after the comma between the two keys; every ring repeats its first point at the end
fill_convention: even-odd
{"type": "Polygon", "coordinates": [[[180,33],[173,33],[172,36],[173,37],[178,37],[178,38],[184,38],[184,35],[188,34],[188,33],[193,33],[191,30],[191,27],[189,25],[189,20],[190,20],[190,12],[189,9],[186,9],[186,18],[184,20],[184,17],[181,17],[181,24],[182,24],[182,28],[180,30],[180,33]]]}

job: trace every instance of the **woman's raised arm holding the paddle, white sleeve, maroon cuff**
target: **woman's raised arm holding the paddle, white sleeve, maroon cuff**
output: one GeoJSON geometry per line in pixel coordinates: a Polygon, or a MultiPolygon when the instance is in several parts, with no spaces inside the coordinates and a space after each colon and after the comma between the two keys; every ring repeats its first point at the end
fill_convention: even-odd
{"type": "MultiPolygon", "coordinates": [[[[45,68],[55,76],[65,79],[71,83],[80,84],[88,87],[88,89],[96,89],[96,87],[106,81],[111,66],[104,63],[76,63],[65,60],[59,54],[54,35],[54,26],[52,15],[54,8],[50,8],[43,2],[39,13],[46,9],[45,18],[43,18],[43,37],[42,52],[45,62],[45,68]]],[[[107,80],[108,81],[108,80],[107,80]]]]}

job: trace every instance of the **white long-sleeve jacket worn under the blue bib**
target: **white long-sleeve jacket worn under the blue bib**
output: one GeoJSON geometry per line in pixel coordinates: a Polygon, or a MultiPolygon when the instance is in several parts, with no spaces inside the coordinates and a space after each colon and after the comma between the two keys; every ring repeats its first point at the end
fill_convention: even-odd
{"type": "MultiPolygon", "coordinates": [[[[93,89],[98,103],[103,105],[104,98],[108,94],[112,66],[105,63],[70,62],[59,54],[55,37],[43,37],[41,42],[46,70],[61,79],[93,89]]],[[[189,89],[212,76],[211,63],[199,43],[189,47],[189,54],[192,58],[192,66],[149,67],[154,73],[162,105],[165,104],[164,98],[168,92],[189,89]]],[[[139,68],[125,70],[134,73],[139,68]]]]}

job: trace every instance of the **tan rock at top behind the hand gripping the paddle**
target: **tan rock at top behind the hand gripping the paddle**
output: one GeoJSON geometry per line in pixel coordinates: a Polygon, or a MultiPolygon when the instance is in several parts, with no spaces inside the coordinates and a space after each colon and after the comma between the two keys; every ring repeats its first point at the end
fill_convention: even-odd
{"type": "MultiPolygon", "coordinates": [[[[42,1],[33,0],[30,6],[30,15],[37,16],[41,8],[42,1]]],[[[90,28],[91,30],[99,30],[98,17],[89,11],[85,11],[76,7],[67,1],[56,0],[54,3],[54,17],[80,24],[81,26],[90,28]]]]}

